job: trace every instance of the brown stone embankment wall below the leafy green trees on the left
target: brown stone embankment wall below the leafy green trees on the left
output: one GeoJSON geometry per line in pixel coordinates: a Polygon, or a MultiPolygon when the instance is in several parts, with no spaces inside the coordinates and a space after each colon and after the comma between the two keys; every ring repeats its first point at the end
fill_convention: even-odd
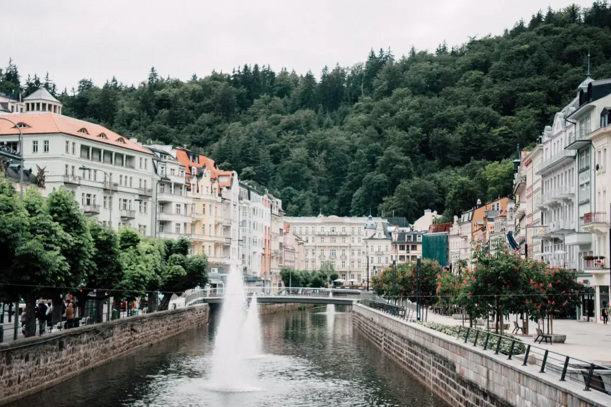
{"type": "Polygon", "coordinates": [[[209,310],[200,304],[0,344],[0,406],[205,325],[209,310]]]}

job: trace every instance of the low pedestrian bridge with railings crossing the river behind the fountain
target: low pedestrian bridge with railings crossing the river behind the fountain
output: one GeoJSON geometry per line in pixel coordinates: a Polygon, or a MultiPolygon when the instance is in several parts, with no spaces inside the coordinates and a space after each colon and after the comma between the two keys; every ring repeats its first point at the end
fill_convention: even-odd
{"type": "MultiPolygon", "coordinates": [[[[349,289],[313,289],[293,287],[291,289],[274,289],[270,287],[249,287],[247,296],[257,294],[257,303],[293,303],[293,304],[334,304],[352,305],[360,298],[362,290],[349,289]]],[[[225,300],[223,289],[190,290],[185,297],[186,305],[216,304],[225,300]]]]}

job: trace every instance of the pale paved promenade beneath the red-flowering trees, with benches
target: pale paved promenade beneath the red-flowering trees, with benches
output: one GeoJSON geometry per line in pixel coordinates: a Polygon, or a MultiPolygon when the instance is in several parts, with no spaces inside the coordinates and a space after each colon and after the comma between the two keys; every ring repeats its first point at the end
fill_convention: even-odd
{"type": "MultiPolygon", "coordinates": [[[[516,320],[516,315],[510,315],[511,328],[507,333],[513,330],[513,321],[516,320]]],[[[462,320],[452,319],[445,315],[428,313],[429,322],[444,323],[446,325],[462,325],[462,320]]],[[[518,321],[519,325],[522,322],[518,321]]],[[[465,320],[465,326],[469,326],[469,320],[465,320]]],[[[537,328],[536,322],[529,321],[529,333],[534,336],[521,337],[525,344],[534,344],[537,328]]],[[[547,329],[546,329],[547,332],[547,329]]],[[[594,361],[601,364],[611,364],[611,324],[603,325],[602,323],[594,322],[579,322],[576,320],[554,320],[554,333],[566,335],[564,344],[539,344],[536,346],[553,350],[563,355],[571,356],[572,358],[582,359],[583,361],[594,361]]]]}

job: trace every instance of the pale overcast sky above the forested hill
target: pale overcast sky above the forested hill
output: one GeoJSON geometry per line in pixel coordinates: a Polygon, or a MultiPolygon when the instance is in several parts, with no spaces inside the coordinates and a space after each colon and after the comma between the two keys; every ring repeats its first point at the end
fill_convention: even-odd
{"type": "Polygon", "coordinates": [[[84,77],[141,82],[153,66],[180,79],[244,63],[318,76],[371,48],[434,51],[571,2],[592,0],[2,0],[0,67],[12,57],[23,79],[48,71],[68,89],[84,77]]]}

